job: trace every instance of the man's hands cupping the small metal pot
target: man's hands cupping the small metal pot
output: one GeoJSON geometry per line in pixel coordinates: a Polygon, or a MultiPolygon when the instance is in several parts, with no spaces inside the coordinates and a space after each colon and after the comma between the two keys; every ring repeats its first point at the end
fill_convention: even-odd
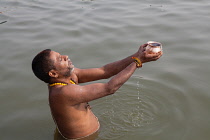
{"type": "Polygon", "coordinates": [[[139,59],[141,60],[142,63],[146,63],[146,62],[150,62],[150,61],[156,61],[157,59],[159,59],[163,52],[160,51],[158,53],[148,53],[146,51],[146,46],[148,44],[143,44],[140,46],[139,50],[138,50],[138,55],[139,55],[139,59]]]}

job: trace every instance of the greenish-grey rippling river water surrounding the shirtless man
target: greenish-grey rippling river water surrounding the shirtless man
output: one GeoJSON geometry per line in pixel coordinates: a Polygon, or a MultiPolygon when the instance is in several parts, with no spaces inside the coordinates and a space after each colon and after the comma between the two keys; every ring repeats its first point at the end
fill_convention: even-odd
{"type": "Polygon", "coordinates": [[[209,140],[209,15],[209,0],[0,0],[0,139],[53,140],[47,86],[31,70],[41,50],[91,68],[154,40],[161,59],[90,102],[98,140],[209,140]]]}

